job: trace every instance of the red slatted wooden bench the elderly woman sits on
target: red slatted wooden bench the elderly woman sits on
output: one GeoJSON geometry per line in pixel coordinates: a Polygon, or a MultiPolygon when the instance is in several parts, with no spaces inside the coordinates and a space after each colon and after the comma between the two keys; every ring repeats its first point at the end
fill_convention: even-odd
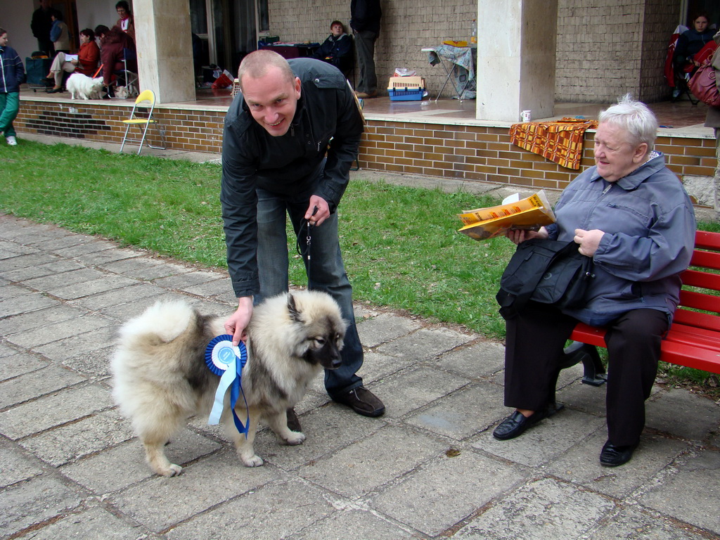
{"type": "MultiPolygon", "coordinates": [[[[683,279],[680,305],[662,340],[662,361],[720,373],[720,296],[713,294],[720,291],[720,274],[715,271],[720,271],[720,233],[698,230],[690,268],[680,274],[683,279]]],[[[604,328],[585,323],[578,323],[570,336],[576,343],[565,349],[567,361],[563,367],[582,361],[585,384],[598,386],[606,380],[605,369],[593,347],[604,347],[604,336],[604,328]]]]}

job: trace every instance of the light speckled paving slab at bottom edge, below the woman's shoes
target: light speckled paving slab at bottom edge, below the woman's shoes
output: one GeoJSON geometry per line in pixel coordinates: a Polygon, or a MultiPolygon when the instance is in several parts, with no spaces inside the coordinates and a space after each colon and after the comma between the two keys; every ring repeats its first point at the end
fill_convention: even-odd
{"type": "Polygon", "coordinates": [[[469,521],[453,538],[575,540],[616,508],[608,498],[567,482],[541,478],[518,487],[469,521]]]}

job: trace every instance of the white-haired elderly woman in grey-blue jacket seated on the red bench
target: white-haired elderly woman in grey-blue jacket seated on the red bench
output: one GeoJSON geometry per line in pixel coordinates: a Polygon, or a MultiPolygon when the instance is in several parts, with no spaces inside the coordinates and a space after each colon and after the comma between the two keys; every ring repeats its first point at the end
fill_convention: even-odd
{"type": "Polygon", "coordinates": [[[592,257],[595,279],[577,309],[528,302],[506,321],[505,405],[516,408],[495,428],[505,440],[559,410],[555,384],[563,346],[578,321],[606,325],[608,440],[600,464],[628,462],[639,444],[660,358],[660,341],[678,305],[680,278],[693,253],[693,204],[653,150],[657,120],[625,96],[600,113],[595,166],[577,176],[555,208],[557,222],[508,238],[574,241],[592,257]]]}

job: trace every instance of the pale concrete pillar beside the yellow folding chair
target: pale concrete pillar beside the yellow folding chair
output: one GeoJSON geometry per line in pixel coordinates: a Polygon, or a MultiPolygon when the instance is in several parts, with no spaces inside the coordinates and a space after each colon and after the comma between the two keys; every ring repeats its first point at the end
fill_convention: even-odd
{"type": "Polygon", "coordinates": [[[140,90],[158,103],[194,101],[189,1],[135,0],[132,8],[140,90]]]}

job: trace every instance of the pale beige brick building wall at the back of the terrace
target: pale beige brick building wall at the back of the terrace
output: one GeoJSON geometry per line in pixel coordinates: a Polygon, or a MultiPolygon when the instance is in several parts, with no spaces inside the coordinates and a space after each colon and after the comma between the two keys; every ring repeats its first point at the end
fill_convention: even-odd
{"type": "MultiPolygon", "coordinates": [[[[441,66],[430,66],[420,49],[447,39],[469,40],[477,1],[382,0],[381,5],[375,52],[380,88],[395,68],[410,68],[426,78],[434,96],[445,74],[441,66]]],[[[679,12],[680,0],[559,0],[555,101],[608,103],[627,92],[647,102],[665,99],[669,88],[662,68],[679,12]]],[[[350,2],[318,0],[312,9],[298,9],[295,0],[269,0],[269,16],[271,35],[283,41],[322,42],[330,21],[348,23],[350,2]]],[[[451,89],[443,96],[451,97],[451,89]]]]}

